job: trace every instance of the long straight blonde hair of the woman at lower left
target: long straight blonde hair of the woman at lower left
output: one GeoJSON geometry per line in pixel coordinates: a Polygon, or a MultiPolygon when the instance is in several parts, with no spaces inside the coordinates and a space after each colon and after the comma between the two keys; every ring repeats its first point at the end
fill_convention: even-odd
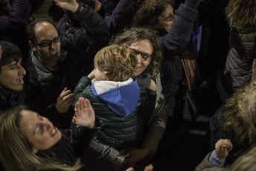
{"type": "Polygon", "coordinates": [[[40,157],[33,154],[31,143],[19,129],[22,110],[27,108],[13,107],[0,115],[0,159],[4,169],[7,171],[79,170],[80,159],[73,167],[67,167],[48,156],[40,157]]]}

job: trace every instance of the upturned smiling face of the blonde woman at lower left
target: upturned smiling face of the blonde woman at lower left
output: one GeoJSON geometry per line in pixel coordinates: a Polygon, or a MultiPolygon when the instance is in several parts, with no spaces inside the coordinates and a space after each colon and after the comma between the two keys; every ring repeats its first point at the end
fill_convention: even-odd
{"type": "Polygon", "coordinates": [[[21,132],[28,138],[33,150],[45,150],[60,141],[61,132],[46,118],[30,110],[22,110],[19,123],[21,132]]]}

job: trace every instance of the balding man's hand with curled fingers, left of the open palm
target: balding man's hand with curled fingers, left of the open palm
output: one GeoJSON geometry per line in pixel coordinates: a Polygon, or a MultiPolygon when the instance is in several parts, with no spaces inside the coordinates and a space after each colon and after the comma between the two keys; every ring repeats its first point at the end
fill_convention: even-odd
{"type": "Polygon", "coordinates": [[[56,109],[60,114],[68,112],[68,109],[74,103],[74,94],[68,88],[64,88],[60,96],[57,98],[56,109]]]}

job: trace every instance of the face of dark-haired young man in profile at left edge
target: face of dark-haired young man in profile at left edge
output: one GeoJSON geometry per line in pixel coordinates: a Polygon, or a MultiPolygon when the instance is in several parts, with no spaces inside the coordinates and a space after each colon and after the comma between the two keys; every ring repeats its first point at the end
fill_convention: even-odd
{"type": "Polygon", "coordinates": [[[7,91],[22,91],[26,74],[25,69],[21,65],[22,59],[19,62],[11,62],[10,64],[1,66],[0,73],[0,88],[7,91]]]}

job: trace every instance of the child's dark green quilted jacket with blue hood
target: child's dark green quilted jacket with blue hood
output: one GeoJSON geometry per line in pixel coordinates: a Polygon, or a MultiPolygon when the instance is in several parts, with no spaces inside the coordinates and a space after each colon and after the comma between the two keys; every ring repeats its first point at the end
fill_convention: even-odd
{"type": "MultiPolygon", "coordinates": [[[[138,100],[135,100],[134,97],[136,96],[135,94],[137,94],[136,90],[134,85],[129,83],[128,85],[106,91],[108,100],[109,98],[113,99],[106,102],[106,97],[95,95],[94,88],[92,88],[91,84],[92,82],[88,77],[81,78],[74,91],[74,95],[76,96],[76,100],[78,100],[79,97],[89,99],[92,103],[95,115],[103,121],[103,129],[100,129],[96,134],[97,140],[118,149],[134,147],[140,144],[144,129],[146,129],[145,127],[147,127],[150,121],[150,114],[152,115],[155,107],[156,92],[150,90],[146,92],[144,88],[140,87],[138,88],[138,100]],[[124,89],[122,90],[122,88],[124,89]],[[151,97],[148,98],[147,95],[151,97]],[[116,99],[120,99],[120,97],[121,100],[118,100],[118,103],[114,104],[114,100],[116,102],[116,99]],[[124,114],[127,100],[131,100],[131,97],[132,100],[138,103],[135,104],[135,109],[133,108],[134,110],[130,111],[131,113],[128,114],[128,116],[121,116],[121,114],[117,114],[118,111],[113,111],[113,106],[115,110],[120,109],[120,106],[122,106],[123,109],[121,113],[124,114]],[[124,104],[122,100],[124,100],[126,104],[124,104]],[[120,102],[122,102],[121,105],[120,102]]],[[[138,86],[137,82],[133,82],[133,84],[138,86]]],[[[103,93],[103,95],[105,94],[103,93]]],[[[132,107],[130,106],[129,108],[132,107]]]]}

